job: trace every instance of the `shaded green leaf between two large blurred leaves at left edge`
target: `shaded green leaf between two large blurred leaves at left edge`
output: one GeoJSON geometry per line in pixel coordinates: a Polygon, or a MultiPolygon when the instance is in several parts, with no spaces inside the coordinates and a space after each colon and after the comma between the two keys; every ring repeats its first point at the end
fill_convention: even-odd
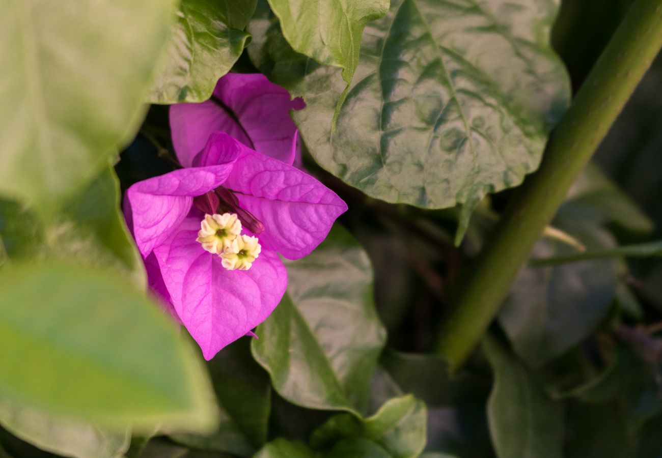
{"type": "Polygon", "coordinates": [[[128,234],[119,201],[119,183],[111,168],[58,205],[45,224],[21,205],[0,199],[0,243],[9,259],[55,257],[90,267],[112,267],[144,288],[142,259],[128,234]]]}

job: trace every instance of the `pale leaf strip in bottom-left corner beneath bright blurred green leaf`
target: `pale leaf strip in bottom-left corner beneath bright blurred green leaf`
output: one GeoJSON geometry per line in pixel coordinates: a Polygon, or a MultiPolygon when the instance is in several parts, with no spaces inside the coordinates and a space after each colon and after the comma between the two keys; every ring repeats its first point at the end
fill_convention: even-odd
{"type": "Polygon", "coordinates": [[[42,450],[75,458],[118,458],[128,449],[129,435],[106,432],[93,424],[57,418],[0,401],[0,424],[42,450]]]}

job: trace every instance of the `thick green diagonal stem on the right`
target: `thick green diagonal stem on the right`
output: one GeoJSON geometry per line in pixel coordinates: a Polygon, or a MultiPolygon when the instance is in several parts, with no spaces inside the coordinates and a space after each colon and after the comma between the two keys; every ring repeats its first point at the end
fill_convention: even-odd
{"type": "Polygon", "coordinates": [[[437,351],[455,371],[495,318],[520,267],[662,47],[662,0],[636,0],[513,195],[461,285],[437,351]]]}

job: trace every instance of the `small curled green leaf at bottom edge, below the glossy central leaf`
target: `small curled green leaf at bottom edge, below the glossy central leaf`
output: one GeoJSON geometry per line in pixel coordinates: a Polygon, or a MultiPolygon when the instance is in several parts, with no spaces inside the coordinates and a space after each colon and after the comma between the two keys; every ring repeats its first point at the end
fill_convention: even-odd
{"type": "Polygon", "coordinates": [[[426,408],[411,394],[388,400],[376,414],[359,419],[333,416],[312,433],[310,444],[320,449],[342,438],[362,437],[378,443],[392,458],[416,458],[425,447],[426,408]]]}

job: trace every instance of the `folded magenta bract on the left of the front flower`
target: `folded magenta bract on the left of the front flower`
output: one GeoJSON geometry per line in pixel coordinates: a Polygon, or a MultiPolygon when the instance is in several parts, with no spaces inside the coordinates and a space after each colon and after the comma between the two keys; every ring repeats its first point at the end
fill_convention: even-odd
{"type": "Polygon", "coordinates": [[[166,240],[191,210],[193,197],[221,185],[230,174],[234,158],[210,167],[179,169],[139,181],[126,191],[124,214],[142,257],[166,240]]]}

